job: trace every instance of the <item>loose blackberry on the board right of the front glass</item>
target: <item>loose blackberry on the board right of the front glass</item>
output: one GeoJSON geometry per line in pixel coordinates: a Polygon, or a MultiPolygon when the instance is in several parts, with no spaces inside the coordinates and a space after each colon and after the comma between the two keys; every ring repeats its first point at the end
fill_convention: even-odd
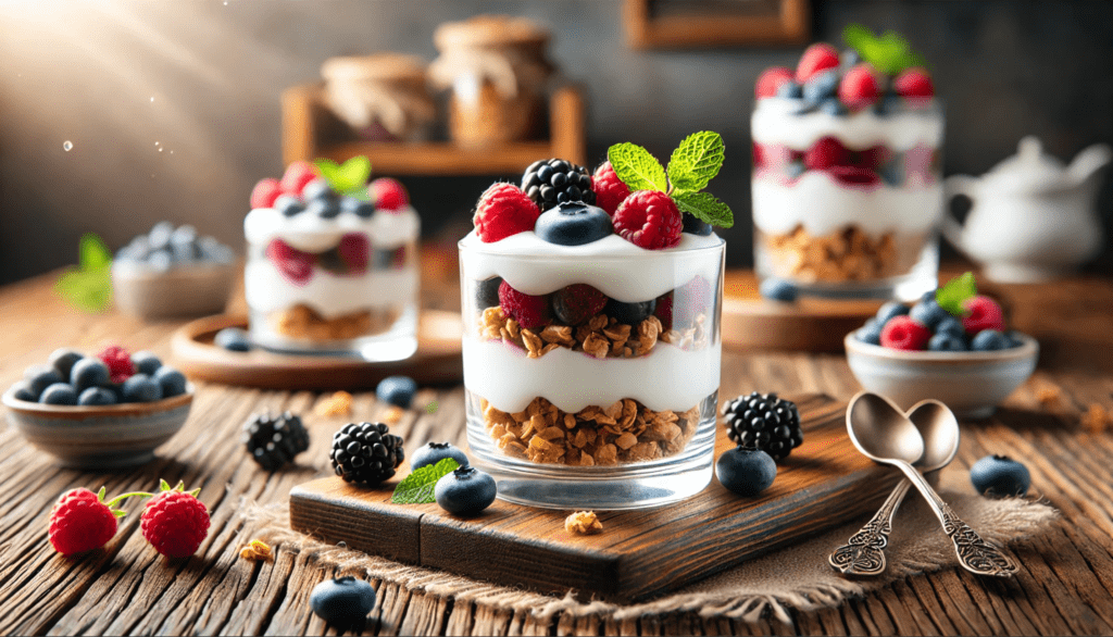
{"type": "Polygon", "coordinates": [[[746,449],[760,449],[780,462],[804,442],[796,403],[777,394],[752,392],[722,406],[727,438],[746,449]]]}

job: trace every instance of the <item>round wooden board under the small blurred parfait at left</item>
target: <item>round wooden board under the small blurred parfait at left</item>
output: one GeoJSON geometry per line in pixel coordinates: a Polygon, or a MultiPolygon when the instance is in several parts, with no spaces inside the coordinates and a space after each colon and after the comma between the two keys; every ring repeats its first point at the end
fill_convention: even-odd
{"type": "Polygon", "coordinates": [[[213,344],[225,327],[247,327],[247,317],[221,314],[181,326],[170,341],[174,359],[190,379],[273,390],[368,389],[390,375],[404,374],[418,384],[459,383],[461,317],[455,312],[423,311],[417,352],[404,361],[372,363],[342,356],[278,354],[263,349],[229,352],[213,344]]]}

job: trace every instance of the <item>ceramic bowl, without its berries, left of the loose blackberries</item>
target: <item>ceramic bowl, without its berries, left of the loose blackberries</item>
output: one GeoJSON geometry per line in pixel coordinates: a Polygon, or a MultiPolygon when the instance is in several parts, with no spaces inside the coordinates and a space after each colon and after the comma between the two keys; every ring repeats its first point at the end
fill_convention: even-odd
{"type": "Polygon", "coordinates": [[[83,469],[135,467],[155,459],[155,449],[189,418],[194,388],[181,395],[148,403],[67,406],[19,400],[3,394],[8,422],[41,451],[62,464],[83,469]]]}

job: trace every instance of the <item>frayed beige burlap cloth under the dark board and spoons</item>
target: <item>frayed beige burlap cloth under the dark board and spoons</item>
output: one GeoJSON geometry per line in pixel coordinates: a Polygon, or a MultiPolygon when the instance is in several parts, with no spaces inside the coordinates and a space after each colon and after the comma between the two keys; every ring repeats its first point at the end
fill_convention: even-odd
{"type": "MultiPolygon", "coordinates": [[[[1033,537],[1047,529],[1058,512],[1033,499],[988,500],[976,496],[966,472],[945,471],[939,493],[955,512],[983,538],[1002,545],[1033,537]]],[[[690,585],[657,599],[633,605],[608,601],[579,601],[571,592],[563,597],[540,595],[496,586],[441,570],[406,566],[368,556],[361,551],[326,545],[290,530],[288,509],[248,507],[245,532],[269,541],[275,548],[311,553],[321,562],[346,572],[362,572],[368,579],[396,582],[426,595],[453,598],[499,610],[532,612],[539,620],[555,614],[599,615],[623,620],[695,611],[705,617],[730,617],[745,620],[771,615],[791,623],[788,607],[810,610],[840,605],[851,596],[881,588],[917,572],[958,568],[949,539],[916,491],[909,492],[894,520],[886,549],[888,569],[877,578],[848,580],[827,564],[827,556],[868,519],[834,528],[804,542],[745,562],[732,569],[690,585]],[[252,529],[254,527],[254,529],[252,529]]],[[[607,532],[605,529],[603,532],[607,532]]]]}

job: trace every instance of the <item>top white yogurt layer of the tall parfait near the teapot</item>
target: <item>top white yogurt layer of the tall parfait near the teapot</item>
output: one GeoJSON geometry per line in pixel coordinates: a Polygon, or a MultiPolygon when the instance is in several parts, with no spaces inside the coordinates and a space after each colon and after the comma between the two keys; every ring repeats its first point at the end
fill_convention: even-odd
{"type": "Polygon", "coordinates": [[[884,117],[871,108],[844,116],[820,111],[796,115],[799,109],[800,100],[759,99],[750,117],[754,141],[807,150],[823,137],[835,137],[854,150],[880,145],[898,153],[916,145],[938,148],[943,143],[943,115],[933,108],[884,117]]]}

